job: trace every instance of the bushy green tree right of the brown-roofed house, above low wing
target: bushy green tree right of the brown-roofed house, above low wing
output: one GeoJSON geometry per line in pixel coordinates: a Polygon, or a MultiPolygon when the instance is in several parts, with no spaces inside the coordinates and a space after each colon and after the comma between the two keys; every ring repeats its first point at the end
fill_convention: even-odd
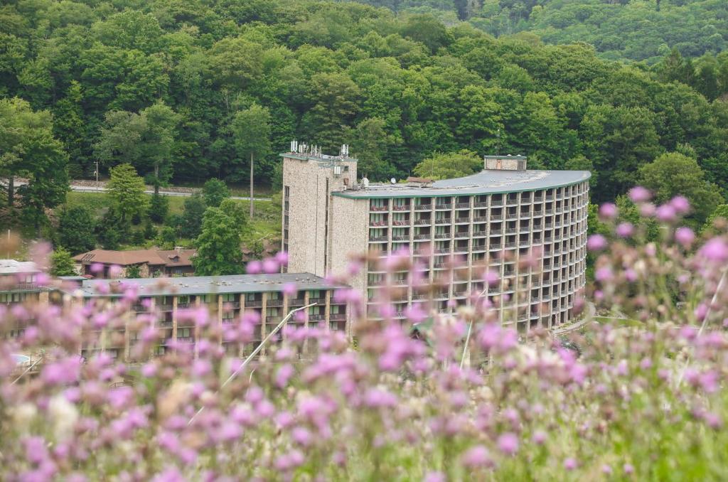
{"type": "Polygon", "coordinates": [[[240,228],[221,208],[207,208],[202,232],[196,241],[197,256],[192,258],[195,273],[202,276],[237,274],[242,269],[240,228]]]}

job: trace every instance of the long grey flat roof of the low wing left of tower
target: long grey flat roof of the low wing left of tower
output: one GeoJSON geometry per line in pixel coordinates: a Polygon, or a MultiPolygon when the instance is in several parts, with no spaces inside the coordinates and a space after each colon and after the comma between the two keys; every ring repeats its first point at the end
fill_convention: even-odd
{"type": "MultiPolygon", "coordinates": [[[[277,273],[84,280],[79,289],[84,298],[106,298],[122,296],[123,288],[130,286],[138,289],[138,296],[171,296],[282,291],[283,286],[288,284],[295,284],[298,290],[306,291],[328,290],[344,286],[327,283],[322,277],[311,273],[277,273]],[[101,288],[101,285],[106,285],[106,287],[101,288]]],[[[69,293],[78,293],[78,290],[72,290],[69,293]]]]}

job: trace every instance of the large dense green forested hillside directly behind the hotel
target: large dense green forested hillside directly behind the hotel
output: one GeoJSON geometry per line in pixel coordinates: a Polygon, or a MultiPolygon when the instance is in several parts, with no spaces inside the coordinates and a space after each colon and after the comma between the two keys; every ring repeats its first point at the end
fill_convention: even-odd
{"type": "Polygon", "coordinates": [[[66,157],[71,177],[99,160],[102,175],[130,162],[162,182],[246,181],[241,111],[270,116],[264,183],[298,138],[351,144],[374,180],[436,152],[499,149],[531,167],[590,168],[596,199],[613,199],[641,165],[680,151],[728,186],[725,57],[705,76],[677,52],[646,71],[586,44],[333,1],[20,0],[0,9],[0,32],[0,95],[28,102],[6,101],[2,127],[35,112],[23,128],[47,125],[63,151],[45,133],[56,164],[24,158],[22,143],[3,154],[5,176],[31,178],[23,199],[36,210],[58,204],[41,188],[66,157]],[[683,83],[697,81],[707,98],[683,83]]]}

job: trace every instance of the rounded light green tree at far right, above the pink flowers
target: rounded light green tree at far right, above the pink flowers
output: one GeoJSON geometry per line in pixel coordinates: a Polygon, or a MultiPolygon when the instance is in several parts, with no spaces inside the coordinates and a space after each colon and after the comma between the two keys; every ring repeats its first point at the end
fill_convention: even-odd
{"type": "Polygon", "coordinates": [[[695,159],[670,152],[641,167],[642,184],[651,189],[657,202],[667,202],[678,194],[692,206],[689,218],[703,224],[719,204],[724,202],[718,187],[705,180],[705,173],[695,159]]]}

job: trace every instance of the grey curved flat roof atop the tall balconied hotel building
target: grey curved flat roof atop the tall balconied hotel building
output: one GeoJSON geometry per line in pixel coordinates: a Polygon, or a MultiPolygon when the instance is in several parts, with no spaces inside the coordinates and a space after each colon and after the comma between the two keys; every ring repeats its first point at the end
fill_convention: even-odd
{"type": "Polygon", "coordinates": [[[587,170],[482,170],[464,178],[435,181],[430,187],[370,183],[367,189],[347,189],[331,194],[350,198],[442,197],[468,194],[505,194],[571,186],[587,181],[587,170]]]}

